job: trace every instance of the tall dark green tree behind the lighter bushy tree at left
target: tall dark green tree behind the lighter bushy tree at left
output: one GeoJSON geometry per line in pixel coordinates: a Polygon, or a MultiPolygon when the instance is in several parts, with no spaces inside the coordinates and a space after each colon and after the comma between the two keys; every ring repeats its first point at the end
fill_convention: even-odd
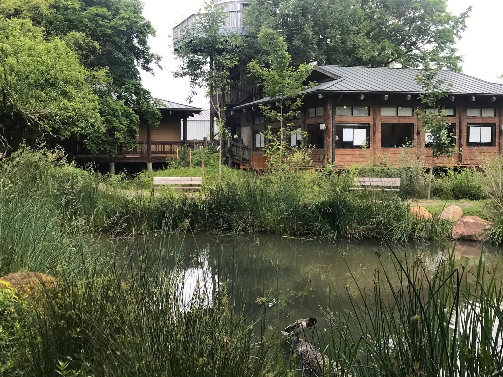
{"type": "Polygon", "coordinates": [[[47,41],[59,38],[89,71],[107,76],[94,92],[104,119],[101,135],[83,133],[92,149],[112,154],[121,144],[137,144],[139,116],[151,126],[160,113],[150,92],[141,85],[138,67],[152,72],[160,57],[150,51],[151,24],[141,15],[138,0],[5,0],[0,13],[30,19],[42,28],[47,41]]]}

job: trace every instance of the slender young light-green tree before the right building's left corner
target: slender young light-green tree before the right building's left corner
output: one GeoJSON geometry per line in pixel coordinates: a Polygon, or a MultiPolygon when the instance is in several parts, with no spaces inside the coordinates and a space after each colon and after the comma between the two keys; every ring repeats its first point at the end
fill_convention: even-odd
{"type": "Polygon", "coordinates": [[[264,85],[265,95],[276,100],[277,109],[269,109],[267,106],[260,108],[265,117],[280,121],[278,163],[282,165],[285,153],[284,123],[288,117],[298,113],[297,109],[302,105],[300,95],[305,89],[304,81],[312,72],[313,66],[300,64],[298,69],[294,69],[283,37],[265,26],[259,33],[258,44],[262,49],[262,62],[254,59],[248,64],[248,68],[264,85]]]}

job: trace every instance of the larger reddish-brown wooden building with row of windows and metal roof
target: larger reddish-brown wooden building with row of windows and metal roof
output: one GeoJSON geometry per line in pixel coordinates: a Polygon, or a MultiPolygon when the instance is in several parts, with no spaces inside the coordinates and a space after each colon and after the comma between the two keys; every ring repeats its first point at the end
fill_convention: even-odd
{"type": "MultiPolygon", "coordinates": [[[[398,163],[407,143],[431,160],[428,135],[414,115],[417,109],[433,111],[418,100],[423,92],[415,80],[418,74],[408,68],[316,65],[308,81],[317,85],[304,92],[299,114],[288,123],[309,134],[314,165],[333,161],[346,167],[369,159],[398,163]]],[[[501,153],[503,85],[452,70],[442,70],[439,78],[450,90],[439,105],[449,115],[459,153],[436,164],[474,166],[483,156],[501,153]]],[[[280,127],[261,114],[259,106],[268,104],[276,106],[266,98],[231,109],[255,167],[264,165],[264,130],[280,127]]],[[[295,136],[290,142],[298,143],[295,136]]]]}

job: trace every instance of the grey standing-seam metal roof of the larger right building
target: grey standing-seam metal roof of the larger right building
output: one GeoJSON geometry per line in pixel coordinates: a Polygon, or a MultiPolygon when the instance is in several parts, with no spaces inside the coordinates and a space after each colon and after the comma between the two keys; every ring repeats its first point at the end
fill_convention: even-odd
{"type": "MultiPolygon", "coordinates": [[[[342,65],[315,65],[314,69],[324,73],[327,81],[304,90],[304,94],[314,93],[404,93],[416,94],[424,92],[417,84],[415,77],[421,74],[416,68],[389,67],[351,67],[342,65]],[[330,79],[332,78],[332,79],[330,79]]],[[[445,79],[449,93],[455,95],[486,95],[503,96],[503,84],[488,82],[462,72],[443,69],[438,77],[445,79]],[[452,83],[453,86],[449,86],[452,83]]],[[[237,106],[232,110],[241,110],[274,102],[264,98],[237,106]]]]}

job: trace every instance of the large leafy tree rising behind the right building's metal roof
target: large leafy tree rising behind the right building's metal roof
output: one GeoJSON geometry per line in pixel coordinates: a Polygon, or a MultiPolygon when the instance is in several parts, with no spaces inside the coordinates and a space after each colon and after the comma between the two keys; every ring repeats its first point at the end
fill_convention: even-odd
{"type": "MultiPolygon", "coordinates": [[[[454,46],[470,11],[454,16],[447,0],[251,0],[244,23],[252,36],[263,25],[279,31],[294,66],[419,67],[432,61],[460,69],[454,46]]],[[[247,43],[255,53],[256,39],[247,43]]]]}

